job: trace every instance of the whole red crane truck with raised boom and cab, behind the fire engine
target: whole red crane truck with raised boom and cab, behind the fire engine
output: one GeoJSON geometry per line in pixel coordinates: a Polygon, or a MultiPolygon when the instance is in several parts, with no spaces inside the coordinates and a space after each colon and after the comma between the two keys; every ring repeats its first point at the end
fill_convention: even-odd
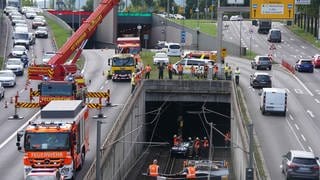
{"type": "Polygon", "coordinates": [[[68,39],[47,64],[33,64],[28,68],[29,80],[41,80],[38,90],[30,90],[30,101],[39,96],[43,107],[51,100],[81,99],[85,93],[85,80],[76,66],[87,40],[95,32],[97,26],[119,0],[102,0],[96,10],[85,20],[79,29],[68,39]],[[70,63],[68,58],[75,54],[70,63]],[[73,80],[66,80],[67,76],[73,80]],[[53,88],[52,88],[53,87],[53,88]],[[61,87],[65,87],[62,90],[61,87]]]}

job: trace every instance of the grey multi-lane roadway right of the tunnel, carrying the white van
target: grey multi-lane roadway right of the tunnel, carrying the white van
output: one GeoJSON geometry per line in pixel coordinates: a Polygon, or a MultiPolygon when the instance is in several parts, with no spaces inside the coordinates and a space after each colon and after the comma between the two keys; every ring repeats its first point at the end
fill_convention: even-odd
{"type": "MultiPolygon", "coordinates": [[[[225,40],[239,42],[239,22],[230,23],[225,40]],[[236,33],[237,32],[237,33],[236,33]]],[[[300,56],[311,57],[318,49],[305,43],[294,36],[280,23],[274,23],[273,27],[282,31],[282,43],[276,44],[275,60],[280,63],[285,59],[294,64],[300,56]]],[[[251,22],[242,22],[242,43],[249,46],[249,28],[253,28],[252,50],[257,54],[268,54],[270,43],[267,36],[257,34],[256,28],[251,27],[251,22]]],[[[271,179],[283,179],[280,170],[281,156],[290,149],[313,151],[319,155],[320,103],[319,70],[314,73],[292,74],[280,64],[274,64],[272,71],[266,71],[272,75],[273,87],[285,88],[288,93],[288,112],[286,117],[267,115],[263,116],[259,110],[259,90],[253,89],[249,84],[249,75],[256,70],[251,69],[250,61],[239,58],[228,58],[227,62],[241,69],[240,87],[244,93],[250,117],[254,123],[259,146],[262,148],[265,163],[268,167],[271,179]]]]}

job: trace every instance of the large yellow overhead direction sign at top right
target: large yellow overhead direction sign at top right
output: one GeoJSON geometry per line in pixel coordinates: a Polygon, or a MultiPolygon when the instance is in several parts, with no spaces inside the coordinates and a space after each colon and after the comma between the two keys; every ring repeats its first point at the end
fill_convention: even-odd
{"type": "Polygon", "coordinates": [[[292,19],[294,0],[251,0],[251,19],[292,19]]]}

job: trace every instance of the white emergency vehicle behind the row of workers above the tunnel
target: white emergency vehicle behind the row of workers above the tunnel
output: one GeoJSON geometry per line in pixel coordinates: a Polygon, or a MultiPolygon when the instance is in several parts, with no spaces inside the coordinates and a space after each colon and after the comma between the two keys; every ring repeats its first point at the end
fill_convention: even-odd
{"type": "Polygon", "coordinates": [[[200,71],[203,73],[204,66],[207,64],[210,67],[214,65],[214,61],[210,59],[196,59],[196,58],[184,58],[173,64],[173,70],[175,74],[178,74],[178,65],[182,64],[183,74],[191,74],[191,66],[196,68],[196,72],[200,71]]]}

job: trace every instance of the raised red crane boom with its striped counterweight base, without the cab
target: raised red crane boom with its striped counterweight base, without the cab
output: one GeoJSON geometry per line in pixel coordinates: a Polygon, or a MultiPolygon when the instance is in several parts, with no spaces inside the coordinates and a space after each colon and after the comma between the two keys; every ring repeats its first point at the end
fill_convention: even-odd
{"type": "Polygon", "coordinates": [[[71,64],[64,63],[67,62],[68,58],[75,51],[79,50],[83,42],[92,36],[103,18],[118,3],[119,0],[102,0],[88,19],[83,22],[79,29],[59,49],[57,54],[49,60],[48,65],[32,65],[29,67],[29,79],[42,80],[43,76],[47,76],[51,80],[60,81],[63,80],[68,73],[75,73],[77,71],[75,60],[73,60],[71,64]]]}

